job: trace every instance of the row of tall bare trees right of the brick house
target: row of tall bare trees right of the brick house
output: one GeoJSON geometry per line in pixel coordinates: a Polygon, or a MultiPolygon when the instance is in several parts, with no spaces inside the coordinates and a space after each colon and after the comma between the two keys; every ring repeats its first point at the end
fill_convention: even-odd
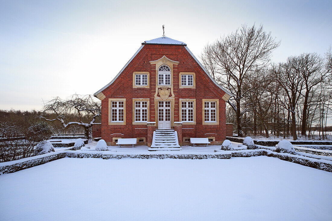
{"type": "Polygon", "coordinates": [[[324,138],[332,107],[331,47],[324,56],[303,53],[272,63],[279,45],[262,25],[244,25],[205,46],[204,66],[234,95],[227,101],[227,121],[238,136],[264,133],[296,140],[311,138],[318,129],[324,138]]]}

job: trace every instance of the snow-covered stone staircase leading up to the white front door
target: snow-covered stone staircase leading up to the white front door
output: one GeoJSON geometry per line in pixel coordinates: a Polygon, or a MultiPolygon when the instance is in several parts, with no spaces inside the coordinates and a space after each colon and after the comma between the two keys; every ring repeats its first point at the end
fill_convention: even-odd
{"type": "Polygon", "coordinates": [[[152,145],[148,150],[182,150],[177,132],[174,129],[156,129],[153,131],[152,145]]]}

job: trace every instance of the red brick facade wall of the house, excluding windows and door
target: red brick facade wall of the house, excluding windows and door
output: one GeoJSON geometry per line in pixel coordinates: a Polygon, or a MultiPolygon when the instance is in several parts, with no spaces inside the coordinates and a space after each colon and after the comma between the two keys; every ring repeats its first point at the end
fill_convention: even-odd
{"type": "MultiPolygon", "coordinates": [[[[179,61],[178,65],[173,65],[173,92],[174,102],[174,121],[181,121],[179,118],[179,99],[196,99],[196,125],[183,125],[182,137],[215,137],[215,141],[220,143],[225,139],[225,101],[221,97],[225,94],[218,88],[206,75],[195,59],[182,45],[144,45],[133,60],[127,65],[120,76],[112,85],[103,91],[106,96],[102,101],[102,133],[101,137],[108,143],[112,142],[113,137],[123,138],[147,137],[146,125],[132,125],[132,99],[150,99],[150,121],[155,121],[154,95],[156,92],[156,65],[151,65],[150,61],[158,60],[162,56],[179,61]],[[132,75],[135,71],[150,73],[149,88],[133,88],[132,75]],[[195,72],[196,89],[179,88],[179,73],[195,72]],[[108,99],[126,99],[126,125],[108,124],[108,99]],[[219,99],[219,125],[203,125],[202,99],[219,99]],[[190,129],[186,129],[190,128],[190,129]],[[114,135],[116,134],[116,136],[114,135]],[[213,136],[211,136],[213,134],[213,136]]],[[[105,79],[105,83],[110,79],[105,79]]]]}

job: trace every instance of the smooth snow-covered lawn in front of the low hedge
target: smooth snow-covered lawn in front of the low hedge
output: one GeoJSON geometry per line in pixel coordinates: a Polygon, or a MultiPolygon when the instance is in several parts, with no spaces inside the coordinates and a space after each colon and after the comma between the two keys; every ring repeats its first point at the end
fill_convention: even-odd
{"type": "Polygon", "coordinates": [[[1,175],[0,220],[332,220],[331,184],[265,156],[63,158],[1,175]]]}

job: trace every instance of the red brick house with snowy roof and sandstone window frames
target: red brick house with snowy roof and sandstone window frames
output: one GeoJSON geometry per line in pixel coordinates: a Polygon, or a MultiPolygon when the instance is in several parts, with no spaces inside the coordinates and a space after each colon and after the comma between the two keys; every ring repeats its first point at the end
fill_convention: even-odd
{"type": "Polygon", "coordinates": [[[108,145],[119,138],[137,138],[137,144],[149,147],[174,138],[170,147],[190,145],[191,137],[207,137],[211,144],[225,140],[225,102],[232,94],[184,42],[168,37],[144,41],[94,95],[102,101],[101,137],[108,145]]]}

